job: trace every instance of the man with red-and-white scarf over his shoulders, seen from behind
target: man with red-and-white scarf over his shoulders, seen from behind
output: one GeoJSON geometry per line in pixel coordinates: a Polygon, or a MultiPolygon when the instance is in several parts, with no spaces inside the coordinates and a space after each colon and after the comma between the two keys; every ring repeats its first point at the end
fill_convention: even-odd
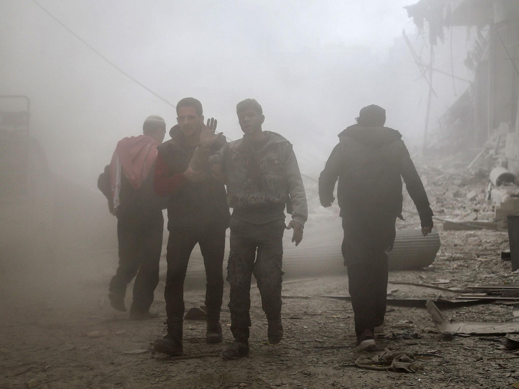
{"type": "Polygon", "coordinates": [[[126,311],[126,286],[135,278],[131,319],[158,316],[150,312],[159,281],[164,218],[162,201],[153,189],[157,146],[166,134],[160,116],[149,116],[143,135],[126,137],[117,143],[110,165],[99,176],[98,188],[108,199],[108,210],[117,216],[119,267],[110,282],[108,298],[112,307],[126,311]]]}

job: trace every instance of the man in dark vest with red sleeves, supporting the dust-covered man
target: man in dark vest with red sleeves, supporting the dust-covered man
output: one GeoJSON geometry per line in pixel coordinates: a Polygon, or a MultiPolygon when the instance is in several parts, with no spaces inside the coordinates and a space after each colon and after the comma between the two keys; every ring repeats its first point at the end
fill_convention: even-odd
{"type": "MultiPolygon", "coordinates": [[[[220,310],[223,298],[223,258],[225,230],[229,226],[229,207],[225,186],[208,171],[195,172],[189,166],[198,146],[203,124],[202,104],[185,98],[176,105],[178,124],[170,131],[171,140],[158,147],[155,192],[169,197],[166,276],[166,313],[168,334],[155,341],[157,352],[182,355],[184,317],[184,279],[187,263],[198,243],[206,267],[207,343],[222,341],[220,310]]],[[[216,128],[216,120],[208,121],[216,128]]],[[[216,152],[226,144],[221,137],[213,145],[216,152]]]]}

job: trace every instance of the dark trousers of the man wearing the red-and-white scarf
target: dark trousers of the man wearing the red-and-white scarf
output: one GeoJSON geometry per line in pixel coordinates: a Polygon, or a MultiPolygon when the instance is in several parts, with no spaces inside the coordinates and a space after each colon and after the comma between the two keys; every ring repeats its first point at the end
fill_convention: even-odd
{"type": "Polygon", "coordinates": [[[110,291],[124,298],[126,286],[135,277],[131,312],[147,312],[159,282],[164,218],[160,209],[117,207],[119,267],[110,281],[110,291]]]}

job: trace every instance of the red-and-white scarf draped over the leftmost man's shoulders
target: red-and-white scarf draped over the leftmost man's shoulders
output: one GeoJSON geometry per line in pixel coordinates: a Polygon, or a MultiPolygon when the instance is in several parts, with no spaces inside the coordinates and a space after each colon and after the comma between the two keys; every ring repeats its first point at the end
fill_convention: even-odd
{"type": "Polygon", "coordinates": [[[139,135],[122,138],[110,162],[110,182],[114,208],[119,205],[120,175],[124,172],[130,185],[139,189],[157,158],[159,143],[151,136],[139,135]]]}

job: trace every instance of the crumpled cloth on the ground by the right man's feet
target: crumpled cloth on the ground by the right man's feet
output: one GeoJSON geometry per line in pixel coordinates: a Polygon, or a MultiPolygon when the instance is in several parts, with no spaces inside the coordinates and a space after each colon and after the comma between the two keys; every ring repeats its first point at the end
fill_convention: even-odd
{"type": "Polygon", "coordinates": [[[363,351],[355,361],[355,366],[368,370],[414,373],[414,359],[414,354],[406,351],[393,352],[385,349],[378,354],[363,351]]]}

